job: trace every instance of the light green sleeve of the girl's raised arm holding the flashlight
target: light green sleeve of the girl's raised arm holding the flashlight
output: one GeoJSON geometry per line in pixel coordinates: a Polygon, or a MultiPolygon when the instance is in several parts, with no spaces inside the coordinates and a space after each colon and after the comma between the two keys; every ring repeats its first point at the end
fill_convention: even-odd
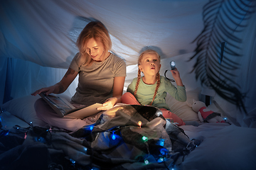
{"type": "Polygon", "coordinates": [[[174,86],[171,81],[164,79],[166,91],[173,96],[177,101],[186,101],[186,88],[185,86],[174,86]]]}

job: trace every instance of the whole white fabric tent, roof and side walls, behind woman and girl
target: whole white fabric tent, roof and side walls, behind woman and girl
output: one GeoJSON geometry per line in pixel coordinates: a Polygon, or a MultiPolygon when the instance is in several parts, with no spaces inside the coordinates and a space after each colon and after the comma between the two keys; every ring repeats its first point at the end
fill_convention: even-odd
{"type": "MultiPolygon", "coordinates": [[[[137,77],[137,57],[145,46],[157,47],[161,58],[161,74],[175,60],[187,90],[201,86],[194,74],[188,74],[195,60],[196,43],[191,43],[203,30],[202,11],[204,0],[183,1],[1,1],[0,4],[0,63],[1,103],[4,94],[17,98],[26,96],[43,86],[60,81],[73,56],[78,52],[75,40],[80,30],[91,20],[105,24],[112,38],[112,52],[127,62],[127,86],[137,77]],[[10,59],[11,58],[11,59],[10,59]],[[9,64],[8,64],[9,63],[9,64]],[[9,88],[8,91],[4,91],[9,88]]],[[[255,21],[255,15],[251,21],[255,21]]],[[[254,22],[255,23],[255,22],[254,22]]],[[[255,24],[247,28],[245,52],[237,70],[242,91],[248,91],[245,105],[250,120],[255,118],[255,24]],[[252,35],[253,31],[253,35],[252,35]],[[247,48],[246,48],[247,47],[247,48]],[[248,55],[246,52],[249,52],[248,55]],[[245,70],[244,68],[248,68],[245,70]]],[[[68,95],[75,92],[75,81],[68,95]]],[[[215,95],[225,113],[238,125],[247,118],[238,108],[215,95]]]]}

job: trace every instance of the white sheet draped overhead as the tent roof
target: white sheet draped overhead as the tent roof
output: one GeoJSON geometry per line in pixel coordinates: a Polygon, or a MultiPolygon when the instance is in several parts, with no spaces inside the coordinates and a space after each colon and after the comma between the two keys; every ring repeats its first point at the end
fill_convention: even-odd
{"type": "Polygon", "coordinates": [[[206,1],[1,1],[1,56],[68,68],[74,41],[92,19],[102,21],[113,52],[137,63],[147,45],[164,57],[192,52],[206,1]],[[188,30],[189,31],[184,31],[188,30]]]}

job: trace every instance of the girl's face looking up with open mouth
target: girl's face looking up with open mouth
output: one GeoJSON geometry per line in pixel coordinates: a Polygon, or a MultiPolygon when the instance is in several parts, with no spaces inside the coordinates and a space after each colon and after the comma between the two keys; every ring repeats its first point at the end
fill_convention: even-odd
{"type": "Polygon", "coordinates": [[[139,69],[144,76],[156,76],[161,68],[159,56],[155,53],[146,53],[142,56],[139,69]]]}

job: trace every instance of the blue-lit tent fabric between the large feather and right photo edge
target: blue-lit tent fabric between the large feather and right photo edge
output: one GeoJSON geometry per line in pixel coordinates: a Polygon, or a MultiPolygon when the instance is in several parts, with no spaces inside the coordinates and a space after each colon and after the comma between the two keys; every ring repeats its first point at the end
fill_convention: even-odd
{"type": "Polygon", "coordinates": [[[237,70],[229,70],[236,74],[235,82],[240,86],[242,93],[246,93],[244,98],[247,115],[241,114],[238,107],[226,102],[223,98],[215,94],[215,101],[218,101],[220,108],[223,108],[233,122],[244,127],[256,127],[256,81],[255,81],[255,63],[256,63],[256,13],[252,16],[252,22],[248,23],[247,28],[242,34],[242,57],[233,57],[230,60],[240,63],[237,70]]]}

